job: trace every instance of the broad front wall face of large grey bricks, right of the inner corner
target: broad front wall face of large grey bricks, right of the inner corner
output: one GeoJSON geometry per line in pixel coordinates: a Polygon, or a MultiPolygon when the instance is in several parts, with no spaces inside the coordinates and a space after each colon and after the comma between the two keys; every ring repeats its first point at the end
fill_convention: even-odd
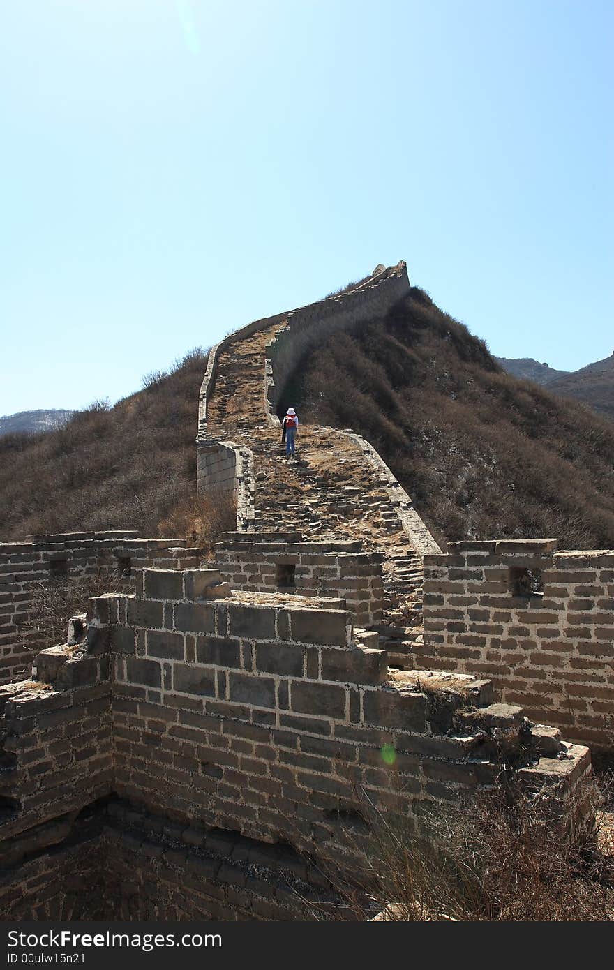
{"type": "MultiPolygon", "coordinates": [[[[361,789],[412,814],[493,780],[497,767],[476,763],[469,739],[445,736],[467,695],[452,692],[442,711],[411,674],[391,678],[376,635],[355,636],[347,611],[262,594],[208,601],[199,582],[198,571],[145,570],[138,598],[99,601],[117,651],[120,796],[313,852],[339,844],[361,789]]],[[[489,690],[469,684],[478,705],[489,690]]]]}

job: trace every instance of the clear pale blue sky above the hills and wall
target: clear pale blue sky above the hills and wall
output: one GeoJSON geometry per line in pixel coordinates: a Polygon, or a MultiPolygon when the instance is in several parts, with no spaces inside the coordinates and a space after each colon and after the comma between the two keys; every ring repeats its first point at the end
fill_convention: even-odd
{"type": "Polygon", "coordinates": [[[404,259],[506,357],[614,350],[611,0],[9,0],[0,414],[112,401],[404,259]]]}

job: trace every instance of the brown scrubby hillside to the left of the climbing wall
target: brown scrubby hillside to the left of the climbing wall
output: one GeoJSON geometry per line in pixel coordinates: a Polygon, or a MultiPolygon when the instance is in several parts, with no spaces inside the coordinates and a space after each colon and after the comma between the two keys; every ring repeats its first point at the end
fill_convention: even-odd
{"type": "Polygon", "coordinates": [[[194,495],[206,366],[193,351],[112,408],[93,405],[46,434],[1,437],[0,541],[92,529],[158,534],[194,495]]]}

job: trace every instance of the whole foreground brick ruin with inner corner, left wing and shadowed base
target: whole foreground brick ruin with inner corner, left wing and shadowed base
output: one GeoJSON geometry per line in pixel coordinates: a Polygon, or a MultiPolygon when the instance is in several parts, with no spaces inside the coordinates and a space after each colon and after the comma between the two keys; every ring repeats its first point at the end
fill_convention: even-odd
{"type": "MultiPolygon", "coordinates": [[[[520,724],[484,706],[488,681],[450,678],[441,699],[348,611],[224,590],[145,569],[136,596],[91,601],[80,643],[38,655],[37,680],[0,688],[3,912],[296,919],[297,889],[330,889],[318,859],[352,865],[365,795],[415,817],[493,783],[482,739],[451,733],[468,702],[520,724]]],[[[519,777],[570,792],[588,751],[545,740],[519,777]]]]}

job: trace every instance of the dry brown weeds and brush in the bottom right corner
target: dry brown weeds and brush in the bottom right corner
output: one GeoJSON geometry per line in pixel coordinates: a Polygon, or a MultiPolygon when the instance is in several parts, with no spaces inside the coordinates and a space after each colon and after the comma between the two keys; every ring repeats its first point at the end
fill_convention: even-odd
{"type": "Polygon", "coordinates": [[[349,838],[359,871],[345,877],[338,864],[322,865],[338,904],[312,908],[312,918],[611,921],[614,842],[603,784],[566,801],[507,779],[494,792],[431,808],[419,830],[406,815],[366,804],[368,835],[349,838]]]}

